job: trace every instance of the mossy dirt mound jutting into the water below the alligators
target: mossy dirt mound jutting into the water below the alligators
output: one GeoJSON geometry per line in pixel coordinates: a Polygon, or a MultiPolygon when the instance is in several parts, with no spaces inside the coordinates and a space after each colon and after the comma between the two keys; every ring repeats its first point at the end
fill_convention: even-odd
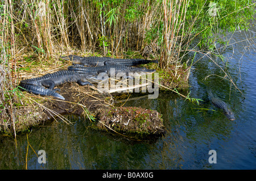
{"type": "Polygon", "coordinates": [[[155,110],[141,107],[109,107],[97,111],[97,128],[142,136],[164,134],[163,120],[155,110]]]}

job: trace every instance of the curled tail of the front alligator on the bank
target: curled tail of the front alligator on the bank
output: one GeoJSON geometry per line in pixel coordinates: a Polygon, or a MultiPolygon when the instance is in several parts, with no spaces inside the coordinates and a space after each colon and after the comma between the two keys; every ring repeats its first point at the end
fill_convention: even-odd
{"type": "Polygon", "coordinates": [[[51,89],[45,89],[42,86],[36,86],[36,85],[31,85],[31,84],[20,82],[19,89],[22,91],[28,91],[28,92],[30,92],[32,94],[36,94],[36,95],[54,96],[55,98],[65,100],[65,98],[62,95],[58,94],[57,92],[55,92],[51,89]]]}

